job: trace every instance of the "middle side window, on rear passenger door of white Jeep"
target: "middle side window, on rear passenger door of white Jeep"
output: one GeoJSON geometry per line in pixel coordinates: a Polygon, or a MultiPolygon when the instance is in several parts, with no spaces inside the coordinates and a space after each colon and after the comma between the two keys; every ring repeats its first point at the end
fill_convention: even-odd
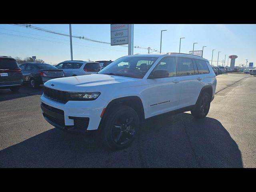
{"type": "Polygon", "coordinates": [[[177,58],[177,64],[179,69],[179,76],[194,75],[194,66],[192,59],[188,58],[177,58]]]}

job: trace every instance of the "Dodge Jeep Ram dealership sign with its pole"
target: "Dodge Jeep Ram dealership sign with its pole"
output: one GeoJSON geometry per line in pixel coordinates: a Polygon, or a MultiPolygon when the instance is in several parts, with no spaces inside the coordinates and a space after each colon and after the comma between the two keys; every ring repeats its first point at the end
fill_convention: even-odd
{"type": "Polygon", "coordinates": [[[133,55],[134,24],[110,24],[111,45],[128,44],[128,55],[133,55]]]}

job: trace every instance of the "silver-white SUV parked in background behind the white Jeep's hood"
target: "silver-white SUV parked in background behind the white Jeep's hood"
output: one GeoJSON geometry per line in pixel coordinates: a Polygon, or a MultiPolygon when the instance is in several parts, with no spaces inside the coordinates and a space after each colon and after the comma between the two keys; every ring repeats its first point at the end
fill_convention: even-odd
{"type": "Polygon", "coordinates": [[[90,75],[100,71],[101,66],[98,62],[92,61],[64,61],[56,65],[56,68],[65,72],[65,77],[90,75]]]}

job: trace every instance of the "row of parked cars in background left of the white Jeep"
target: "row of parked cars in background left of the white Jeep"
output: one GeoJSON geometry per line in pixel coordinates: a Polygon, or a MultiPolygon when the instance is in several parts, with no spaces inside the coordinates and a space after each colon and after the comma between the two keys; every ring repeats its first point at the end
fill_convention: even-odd
{"type": "Polygon", "coordinates": [[[111,62],[72,60],[60,62],[56,66],[36,62],[18,65],[14,58],[0,56],[0,88],[18,91],[23,82],[37,88],[54,78],[97,73],[111,62]]]}

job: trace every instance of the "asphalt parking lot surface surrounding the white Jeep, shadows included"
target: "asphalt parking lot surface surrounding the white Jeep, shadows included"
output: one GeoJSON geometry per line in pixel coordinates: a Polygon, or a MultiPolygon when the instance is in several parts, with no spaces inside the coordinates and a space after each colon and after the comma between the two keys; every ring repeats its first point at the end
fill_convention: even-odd
{"type": "Polygon", "coordinates": [[[210,112],[146,122],[132,145],[111,151],[44,120],[42,87],[0,90],[0,167],[256,168],[256,77],[221,74],[210,112]]]}

